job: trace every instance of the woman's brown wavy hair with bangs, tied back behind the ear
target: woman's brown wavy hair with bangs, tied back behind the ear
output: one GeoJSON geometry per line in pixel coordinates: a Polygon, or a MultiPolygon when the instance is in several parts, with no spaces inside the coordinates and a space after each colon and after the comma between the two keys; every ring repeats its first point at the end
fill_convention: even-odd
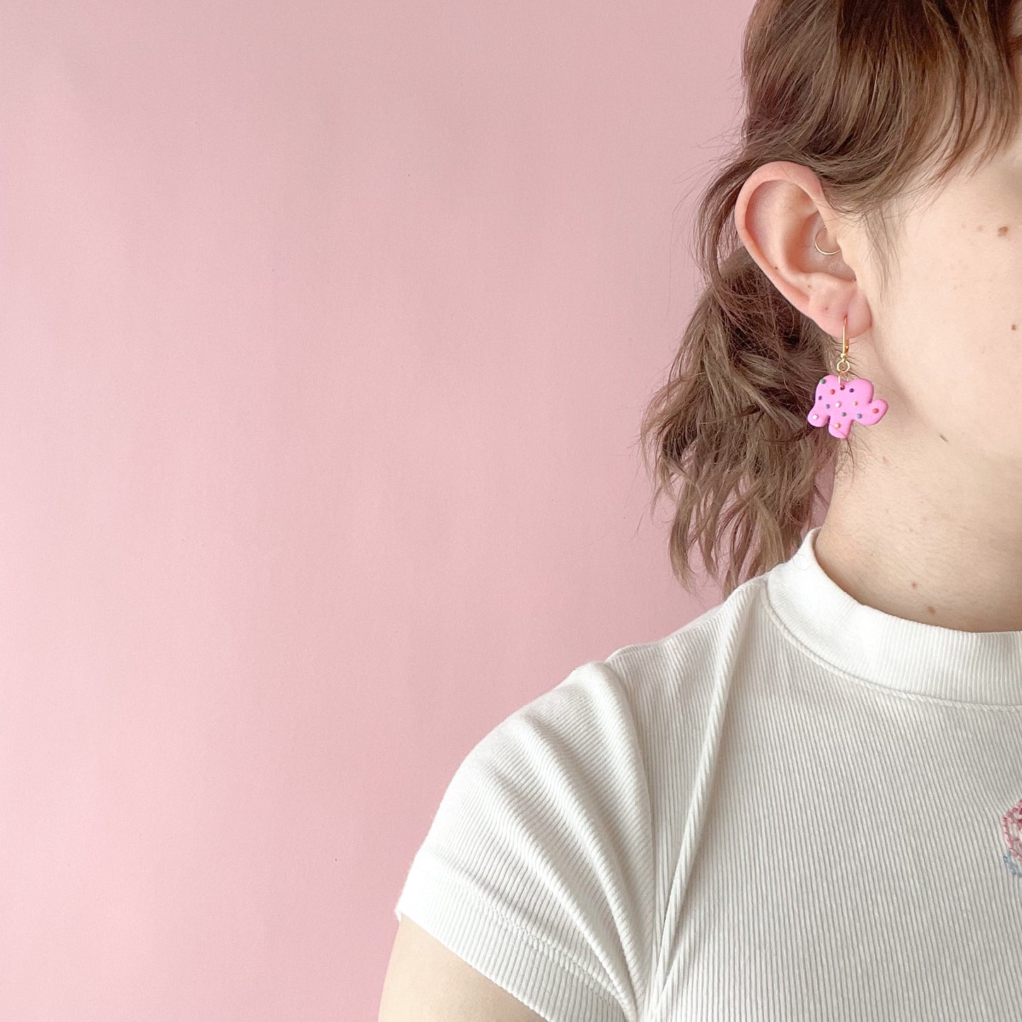
{"type": "Polygon", "coordinates": [[[811,170],[831,207],[863,225],[886,293],[897,203],[977,153],[977,166],[996,155],[1015,137],[1022,37],[1012,35],[1013,6],[755,4],[742,41],[740,143],[715,161],[723,166],[693,223],[704,287],[639,436],[654,481],[650,510],[665,495],[673,504],[670,564],[686,589],[694,592],[694,547],[725,597],[787,560],[811,527],[815,502],[829,502],[821,483],[833,480],[842,451],[854,467],[850,437],[839,443],[805,419],[840,338],[795,309],[749,256],[733,217],[742,185],[773,160],[811,170]]]}

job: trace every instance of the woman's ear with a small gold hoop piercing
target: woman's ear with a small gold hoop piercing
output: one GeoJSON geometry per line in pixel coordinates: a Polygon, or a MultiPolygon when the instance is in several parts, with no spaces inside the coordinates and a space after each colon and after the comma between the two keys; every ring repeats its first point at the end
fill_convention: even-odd
{"type": "MultiPolygon", "coordinates": [[[[820,179],[788,160],[757,167],[735,202],[735,227],[749,254],[774,286],[822,330],[840,337],[873,325],[869,304],[841,248],[854,234],[827,204],[820,179]],[[833,230],[827,229],[829,227],[833,230]],[[814,239],[824,251],[821,256],[814,239]]],[[[849,256],[854,262],[854,256],[849,256]]]]}

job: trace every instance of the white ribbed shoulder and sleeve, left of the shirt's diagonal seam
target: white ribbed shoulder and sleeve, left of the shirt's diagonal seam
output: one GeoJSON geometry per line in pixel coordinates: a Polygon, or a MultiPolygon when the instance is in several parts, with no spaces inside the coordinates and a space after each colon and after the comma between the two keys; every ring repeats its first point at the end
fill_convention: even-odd
{"type": "Polygon", "coordinates": [[[398,919],[552,1022],[637,1018],[662,860],[698,781],[722,643],[742,626],[734,596],[579,664],[486,733],[451,778],[398,919]]]}

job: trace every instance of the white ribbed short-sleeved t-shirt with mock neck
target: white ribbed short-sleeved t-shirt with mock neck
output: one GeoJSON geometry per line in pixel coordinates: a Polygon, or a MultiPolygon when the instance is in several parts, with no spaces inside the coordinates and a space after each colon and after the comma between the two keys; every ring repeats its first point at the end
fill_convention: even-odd
{"type": "Polygon", "coordinates": [[[1018,1022],[1022,632],[814,543],[461,762],[394,909],[549,1022],[1018,1022]]]}

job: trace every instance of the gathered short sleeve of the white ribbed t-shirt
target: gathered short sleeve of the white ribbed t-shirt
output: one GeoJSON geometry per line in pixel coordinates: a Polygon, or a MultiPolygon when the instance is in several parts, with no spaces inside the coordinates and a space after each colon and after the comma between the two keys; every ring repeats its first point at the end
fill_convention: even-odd
{"type": "Polygon", "coordinates": [[[576,667],[458,766],[394,908],[548,1022],[637,1022],[647,780],[620,676],[576,667]]]}

